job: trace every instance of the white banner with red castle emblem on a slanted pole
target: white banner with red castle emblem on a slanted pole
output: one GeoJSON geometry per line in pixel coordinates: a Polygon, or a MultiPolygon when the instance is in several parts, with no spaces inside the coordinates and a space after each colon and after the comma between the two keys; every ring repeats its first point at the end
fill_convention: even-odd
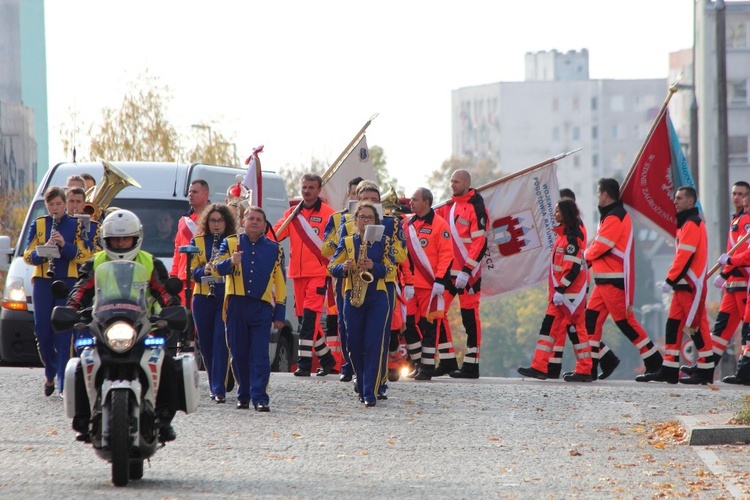
{"type": "Polygon", "coordinates": [[[498,296],[546,282],[560,198],[557,165],[549,163],[482,189],[490,222],[482,260],[482,294],[498,296]]]}

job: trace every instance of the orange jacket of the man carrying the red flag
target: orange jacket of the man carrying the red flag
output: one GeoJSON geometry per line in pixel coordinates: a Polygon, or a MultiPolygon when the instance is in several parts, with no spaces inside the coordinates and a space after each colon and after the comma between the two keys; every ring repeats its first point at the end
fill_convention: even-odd
{"type": "Polygon", "coordinates": [[[586,249],[596,284],[625,290],[626,273],[633,267],[633,225],[622,201],[599,207],[601,219],[596,237],[586,249]]]}

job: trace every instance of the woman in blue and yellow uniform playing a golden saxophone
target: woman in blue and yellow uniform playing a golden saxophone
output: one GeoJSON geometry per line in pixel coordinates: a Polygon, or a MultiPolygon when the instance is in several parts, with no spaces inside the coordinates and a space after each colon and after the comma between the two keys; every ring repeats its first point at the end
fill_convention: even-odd
{"type": "Polygon", "coordinates": [[[357,376],[357,392],[367,407],[375,406],[383,379],[382,359],[388,352],[388,294],[385,277],[391,252],[378,212],[360,202],[354,212],[356,232],[339,242],[328,270],[343,279],[344,321],[349,356],[357,376]],[[369,229],[368,229],[369,228],[369,229]],[[379,234],[378,234],[379,233],[379,234]]]}

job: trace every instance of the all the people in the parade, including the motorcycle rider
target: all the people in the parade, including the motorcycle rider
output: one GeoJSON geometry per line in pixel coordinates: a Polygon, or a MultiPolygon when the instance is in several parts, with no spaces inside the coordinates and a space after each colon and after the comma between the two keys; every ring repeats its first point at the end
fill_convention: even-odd
{"type": "MultiPolygon", "coordinates": [[[[101,223],[76,217],[91,183],[93,178],[73,176],[66,188],[48,189],[44,196],[48,215],[36,219],[27,236],[24,260],[34,266],[34,320],[45,366],[45,395],[52,395],[56,387],[60,393],[64,390],[64,370],[71,355],[72,333],[53,334],[52,308],[90,305],[93,270],[107,260],[144,265],[151,275],[153,301],[162,306],[184,304],[185,295],[190,297],[209,396],[219,404],[226,403],[236,381],[238,409],[252,405],[256,411],[270,411],[269,342],[271,329],[284,326],[287,273],[300,324],[295,376],[338,374],[342,382],[353,384],[353,392],[366,407],[387,399],[388,382],[398,377],[389,363],[402,357],[411,367],[408,376],[418,381],[444,375],[479,377],[481,268],[489,215],[467,171],[453,173],[453,195],[439,205],[426,188],[417,189],[406,207],[397,200],[381,200],[373,181],[353,179],[352,201],[338,211],[320,197],[322,178],[305,174],[302,199],[278,221],[267,220],[262,208],[248,203],[239,186],[227,190],[224,203],[211,203],[207,182],[194,180],[188,195],[190,209],[177,225],[169,271],[141,250],[143,229],[132,212],[116,210],[101,223]],[[280,245],[286,238],[289,255],[280,245]],[[179,252],[185,245],[197,247],[198,252],[179,252]],[[50,253],[55,247],[57,252],[50,253]],[[191,293],[178,297],[167,291],[170,276],[184,285],[191,283],[191,293]],[[53,296],[56,280],[65,281],[72,290],[67,299],[53,296]],[[461,366],[446,319],[456,298],[467,337],[461,366]]],[[[597,196],[600,221],[587,243],[575,194],[569,189],[560,192],[554,210],[557,226],[548,306],[531,364],[518,372],[528,378],[562,377],[568,382],[609,377],[620,363],[602,339],[602,326],[611,316],[643,361],[645,371],[636,381],[670,384],[712,383],[715,366],[742,324],[743,352],[737,371],[723,381],[750,385],[750,248],[742,240],[750,232],[750,184],[732,186],[736,213],[727,252],[718,262],[720,272],[711,282],[723,290],[713,329],[705,310],[708,268],[713,263],[708,261],[698,196],[689,186],[675,191],[675,255],[661,286],[663,293],[671,294],[663,352],[633,314],[633,227],[618,182],[600,179],[597,196]],[[697,361],[681,366],[685,334],[697,348],[697,361]],[[561,373],[566,337],[573,346],[575,368],[561,373]]],[[[170,421],[175,404],[166,394],[169,383],[165,386],[157,401],[170,421]]],[[[172,436],[164,440],[174,439],[171,427],[166,432],[172,436]]]]}

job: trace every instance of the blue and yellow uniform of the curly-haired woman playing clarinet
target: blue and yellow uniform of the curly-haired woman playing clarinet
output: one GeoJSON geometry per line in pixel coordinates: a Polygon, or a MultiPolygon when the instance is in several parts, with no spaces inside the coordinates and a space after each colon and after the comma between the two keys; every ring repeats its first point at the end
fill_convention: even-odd
{"type": "Polygon", "coordinates": [[[203,354],[203,363],[206,365],[208,374],[208,386],[211,394],[217,397],[226,397],[227,383],[229,382],[229,349],[227,348],[226,325],[223,318],[223,304],[225,284],[221,282],[214,284],[214,297],[209,298],[209,285],[201,284],[201,278],[205,275],[204,267],[211,260],[213,246],[218,248],[221,236],[214,242],[212,234],[196,236],[190,241],[200,250],[193,255],[190,264],[193,269],[193,319],[198,331],[198,343],[203,354]]]}

